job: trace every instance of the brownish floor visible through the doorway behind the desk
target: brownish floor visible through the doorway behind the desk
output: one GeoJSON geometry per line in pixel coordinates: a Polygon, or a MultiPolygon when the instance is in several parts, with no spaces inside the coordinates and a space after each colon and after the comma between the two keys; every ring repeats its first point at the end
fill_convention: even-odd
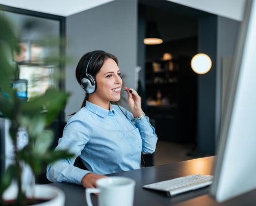
{"type": "Polygon", "coordinates": [[[186,155],[187,152],[192,151],[193,149],[193,145],[157,141],[154,165],[156,166],[195,159],[197,157],[190,157],[186,155]]]}

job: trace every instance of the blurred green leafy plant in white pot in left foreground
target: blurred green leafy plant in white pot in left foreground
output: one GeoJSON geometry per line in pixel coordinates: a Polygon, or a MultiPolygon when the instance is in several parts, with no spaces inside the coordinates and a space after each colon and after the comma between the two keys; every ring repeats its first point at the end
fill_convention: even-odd
{"type": "MultiPolygon", "coordinates": [[[[10,123],[9,134],[14,145],[13,164],[9,165],[0,182],[0,204],[1,205],[41,205],[35,202],[35,196],[43,195],[41,199],[57,197],[56,191],[50,187],[46,192],[46,187],[37,187],[32,183],[32,193],[26,196],[26,186],[22,183],[22,169],[24,165],[31,168],[34,175],[40,173],[44,165],[52,163],[58,159],[72,157],[68,151],[53,151],[51,143],[53,132],[48,125],[59,115],[66,105],[68,93],[59,91],[56,88],[49,88],[44,94],[36,96],[29,101],[21,100],[16,92],[10,88],[10,80],[16,77],[17,68],[11,63],[12,52],[19,53],[17,38],[11,29],[11,25],[0,17],[0,111],[10,123]],[[10,52],[12,51],[12,52],[10,52]],[[17,131],[25,128],[28,134],[27,144],[23,148],[18,148],[17,131]],[[5,191],[15,183],[17,195],[12,201],[6,201],[5,191]],[[42,191],[44,190],[44,191],[42,191]],[[8,204],[7,204],[8,203],[8,204]]],[[[1,136],[1,138],[4,138],[1,136]]],[[[3,157],[2,157],[3,158],[3,157]]],[[[13,193],[13,192],[11,192],[13,193]]],[[[62,194],[63,196],[63,194],[62,194]]],[[[55,200],[54,200],[55,201],[55,200]]],[[[64,201],[62,200],[63,204],[64,201]]],[[[56,205],[56,201],[53,202],[56,205]]],[[[50,205],[43,203],[42,205],[50,205]]]]}

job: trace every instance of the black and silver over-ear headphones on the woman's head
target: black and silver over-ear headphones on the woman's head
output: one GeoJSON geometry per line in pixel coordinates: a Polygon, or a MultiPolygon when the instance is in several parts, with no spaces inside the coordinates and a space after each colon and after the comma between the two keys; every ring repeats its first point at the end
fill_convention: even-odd
{"type": "Polygon", "coordinates": [[[90,61],[93,59],[93,57],[100,52],[104,52],[104,51],[95,50],[93,52],[90,52],[86,57],[83,65],[82,76],[80,77],[80,84],[84,89],[84,91],[88,94],[95,92],[95,90],[97,89],[97,83],[94,76],[87,73],[88,65],[90,61]]]}

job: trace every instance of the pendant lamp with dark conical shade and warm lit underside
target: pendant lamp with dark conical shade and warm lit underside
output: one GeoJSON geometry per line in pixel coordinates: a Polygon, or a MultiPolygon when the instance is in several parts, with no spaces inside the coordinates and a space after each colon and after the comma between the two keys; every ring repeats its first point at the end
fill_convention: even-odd
{"type": "Polygon", "coordinates": [[[146,30],[146,38],[144,39],[144,44],[161,44],[163,40],[161,39],[156,22],[148,22],[146,30]]]}

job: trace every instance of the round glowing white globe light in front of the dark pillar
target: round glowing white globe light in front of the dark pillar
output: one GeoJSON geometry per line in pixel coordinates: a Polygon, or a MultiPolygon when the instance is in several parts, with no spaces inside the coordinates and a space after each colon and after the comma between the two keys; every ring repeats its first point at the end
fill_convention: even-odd
{"type": "Polygon", "coordinates": [[[191,60],[192,70],[197,74],[205,74],[212,67],[212,60],[206,54],[197,54],[191,60]]]}

